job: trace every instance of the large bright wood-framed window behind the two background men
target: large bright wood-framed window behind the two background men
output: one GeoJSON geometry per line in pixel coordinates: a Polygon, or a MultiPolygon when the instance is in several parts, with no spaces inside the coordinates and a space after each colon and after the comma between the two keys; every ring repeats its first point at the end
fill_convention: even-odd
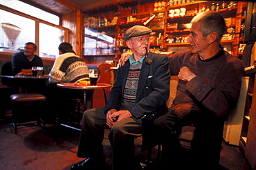
{"type": "Polygon", "coordinates": [[[56,25],[59,17],[17,0],[0,0],[0,4],[0,52],[15,53],[33,42],[40,57],[55,59],[59,55],[58,46],[67,30],[56,25]]]}

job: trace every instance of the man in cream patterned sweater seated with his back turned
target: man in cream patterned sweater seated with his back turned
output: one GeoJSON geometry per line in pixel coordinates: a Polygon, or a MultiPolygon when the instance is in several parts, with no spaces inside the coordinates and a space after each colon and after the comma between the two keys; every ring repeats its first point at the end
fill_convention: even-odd
{"type": "MultiPolygon", "coordinates": [[[[80,56],[75,55],[70,43],[61,43],[58,49],[60,56],[57,56],[55,59],[53,68],[49,73],[48,83],[46,84],[46,103],[53,106],[51,107],[55,109],[53,113],[61,112],[61,105],[63,111],[68,111],[66,106],[71,106],[69,111],[73,110],[70,103],[67,105],[64,104],[67,102],[65,98],[84,97],[83,91],[77,89],[62,89],[57,87],[57,83],[76,83],[89,76],[89,69],[86,63],[80,58],[80,56]],[[65,108],[63,106],[65,106],[65,108]]],[[[86,97],[90,98],[93,95],[93,92],[93,90],[87,90],[86,97]]]]}

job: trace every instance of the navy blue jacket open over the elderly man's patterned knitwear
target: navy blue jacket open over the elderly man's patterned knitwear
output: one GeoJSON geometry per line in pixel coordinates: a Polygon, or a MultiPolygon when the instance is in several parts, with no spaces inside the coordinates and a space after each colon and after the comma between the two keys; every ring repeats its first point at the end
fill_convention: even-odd
{"type": "MultiPolygon", "coordinates": [[[[167,56],[152,52],[149,52],[148,56],[153,62],[151,65],[147,65],[144,59],[138,82],[136,103],[129,108],[134,117],[142,118],[143,123],[152,123],[167,109],[166,102],[170,94],[170,69],[167,56]]],[[[120,110],[129,67],[130,63],[127,61],[124,66],[118,68],[105,113],[109,109],[120,110]]]]}

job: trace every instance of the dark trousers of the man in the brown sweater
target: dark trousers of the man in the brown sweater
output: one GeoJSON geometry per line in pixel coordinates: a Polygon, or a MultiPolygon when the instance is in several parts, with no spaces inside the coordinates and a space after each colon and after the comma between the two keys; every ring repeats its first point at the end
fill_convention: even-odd
{"type": "Polygon", "coordinates": [[[178,119],[175,114],[168,112],[154,120],[163,147],[161,169],[219,169],[223,120],[201,111],[195,111],[182,120],[178,119]],[[176,131],[192,123],[195,131],[191,155],[188,156],[183,155],[185,153],[182,151],[179,134],[176,134],[176,131]]]}

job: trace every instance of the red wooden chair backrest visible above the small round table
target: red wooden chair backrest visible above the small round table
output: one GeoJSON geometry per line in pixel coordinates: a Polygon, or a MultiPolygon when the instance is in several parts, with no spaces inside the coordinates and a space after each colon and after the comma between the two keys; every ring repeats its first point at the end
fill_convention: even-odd
{"type": "Polygon", "coordinates": [[[102,63],[98,65],[98,70],[100,72],[97,83],[111,83],[111,73],[110,73],[111,64],[102,63]]]}

